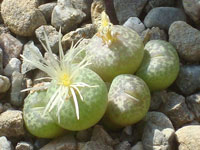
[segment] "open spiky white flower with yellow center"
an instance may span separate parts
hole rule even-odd
[[[29,60],[25,56],[21,55],[24,61],[30,63],[31,65],[35,66],[36,68],[46,72],[49,77],[45,78],[40,78],[38,80],[42,79],[51,79],[53,82],[55,81],[56,84],[58,85],[57,90],[54,92],[54,94],[51,96],[48,104],[45,107],[44,114],[48,111],[50,112],[56,105],[58,106],[58,111],[57,111],[57,117],[58,121],[60,122],[60,110],[62,109],[62,106],[64,104],[64,101],[69,99],[69,97],[72,96],[73,101],[74,101],[74,106],[76,110],[76,116],[77,119],[79,120],[79,106],[78,106],[78,100],[77,100],[77,94],[80,97],[80,99],[83,101],[83,97],[81,95],[81,92],[79,91],[79,87],[96,87],[96,86],[91,86],[83,82],[72,82],[73,77],[79,73],[79,71],[88,66],[88,58],[85,57],[80,63],[78,64],[72,64],[73,59],[82,51],[80,50],[78,53],[74,53],[74,49],[77,47],[77,44],[80,42],[77,42],[73,46],[71,46],[69,52],[64,55],[63,48],[61,45],[61,30],[59,31],[59,58],[56,59],[48,42],[48,38],[46,33],[45,35],[45,40],[46,40],[46,46],[44,43],[41,44],[43,45],[45,51],[49,54],[50,60],[47,61],[43,56],[37,54],[34,52],[34,50],[30,51],[32,53],[32,60]],[[32,87],[32,88],[27,88],[23,91],[35,91],[35,90],[43,90],[47,89],[49,86],[51,86],[51,83],[49,84],[43,84],[42,86],[38,87]]]

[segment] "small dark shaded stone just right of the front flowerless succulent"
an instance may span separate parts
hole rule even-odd
[[[157,91],[152,93],[150,110],[158,110],[160,105],[166,101],[167,91]]]

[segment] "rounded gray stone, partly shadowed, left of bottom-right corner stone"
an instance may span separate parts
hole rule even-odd
[[[142,144],[144,149],[171,150],[173,148],[174,128],[169,118],[161,112],[148,112]]]

